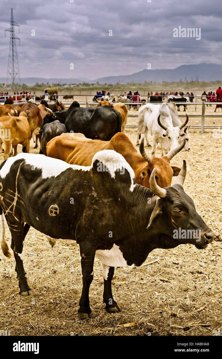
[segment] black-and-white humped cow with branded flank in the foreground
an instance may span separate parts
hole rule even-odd
[[[81,318],[92,316],[89,288],[95,256],[103,264],[105,308],[110,313],[120,311],[111,288],[115,266],[140,266],[155,248],[190,243],[202,249],[214,239],[214,233],[183,190],[185,174],[184,161],[176,183],[160,188],[153,169],[150,190],[135,183],[132,168],[113,150],[96,153],[89,167],[27,153],[7,159],[0,166],[1,247],[9,257],[4,213],[12,237],[20,294],[31,294],[22,250],[32,226],[52,244],[54,239],[74,239],[79,244]],[[191,234],[190,239],[175,239],[175,228],[190,232],[198,229],[199,238]]]

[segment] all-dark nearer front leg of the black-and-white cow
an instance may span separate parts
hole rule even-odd
[[[89,287],[93,280],[93,264],[96,248],[89,246],[89,243],[79,245],[82,268],[82,294],[79,301],[79,317],[87,319],[92,317],[92,311],[89,305]]]

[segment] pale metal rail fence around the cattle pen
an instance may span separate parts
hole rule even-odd
[[[16,100],[17,100],[17,96],[19,96],[19,95],[4,95],[5,97],[10,97],[10,96],[15,96],[15,102],[14,103],[17,103],[17,104],[21,104],[22,102],[16,102]],[[40,95],[39,95],[40,96]],[[86,99],[86,101],[79,101],[79,104],[80,105],[85,105],[86,107],[91,107],[91,106],[93,106],[93,105],[95,105],[96,103],[95,102],[92,102],[92,101],[88,101],[88,97],[93,97],[93,95],[73,95],[73,98],[74,98],[74,96],[75,97],[80,97],[80,96],[84,96],[85,97],[85,99]],[[118,96],[118,95],[115,95],[115,96]],[[162,95],[160,95],[160,96],[162,96]],[[173,95],[172,95],[173,96]],[[34,101],[35,101],[35,99],[36,99],[36,97],[38,97],[38,95],[33,95],[32,96],[33,98],[34,98]],[[143,95],[143,96],[141,96],[141,97],[149,97],[149,96],[147,96],[147,95]],[[162,96],[163,97],[163,96]],[[171,97],[171,95],[169,95],[169,96],[166,96],[165,95],[165,98],[167,98],[168,99],[168,97]],[[188,97],[188,95],[186,95],[185,97]],[[205,109],[206,109],[206,105],[210,105],[210,104],[215,104],[215,105],[217,105],[217,104],[219,104],[219,105],[222,105],[222,102],[205,102],[205,101],[200,101],[200,102],[197,102],[197,98],[198,97],[202,97],[201,95],[195,95],[194,96],[195,97],[195,102],[176,102],[176,104],[177,105],[189,105],[189,106],[192,106],[192,105],[195,105],[195,112],[196,112],[196,110],[197,110],[197,105],[202,105],[202,114],[201,115],[189,115],[189,117],[201,117],[201,126],[200,125],[190,125],[190,128],[191,129],[201,129],[201,134],[203,134],[204,133],[204,129],[216,129],[216,128],[218,128],[218,125],[217,126],[213,126],[213,125],[207,125],[207,126],[205,126],[205,118],[206,117],[222,117],[222,115],[208,115],[208,114],[206,114],[205,113]],[[66,102],[66,101],[64,101],[63,100],[63,94],[59,94],[58,95],[58,100],[59,101],[63,101],[63,104],[66,106],[66,105],[68,105],[68,106],[70,106],[71,104],[72,104],[72,102],[73,102],[73,100],[72,101],[68,101],[68,102]],[[122,101],[121,101],[122,102]],[[26,102],[24,102],[24,103],[26,103]],[[38,104],[38,103],[40,103],[40,101],[36,101],[36,103]],[[49,102],[50,103],[50,102]],[[115,103],[115,102],[114,102]],[[113,103],[113,104],[114,104]],[[135,106],[141,106],[143,103],[141,103],[141,102],[122,102],[122,103],[124,103],[124,104],[126,104],[126,105],[130,105],[131,107],[132,107],[132,105],[135,105]],[[167,102],[146,102],[146,103],[153,103],[153,104],[162,104],[162,103],[167,103]],[[133,107],[133,108],[135,108],[135,107]],[[178,114],[179,115],[179,117],[186,117],[186,115],[182,115],[182,114]],[[127,117],[138,117],[138,113],[137,114],[128,114],[128,116]],[[222,126],[222,125],[221,125]],[[126,128],[136,128],[137,127],[137,125],[126,125]],[[220,127],[220,125],[219,125],[219,127]]]

